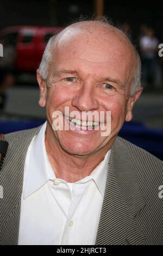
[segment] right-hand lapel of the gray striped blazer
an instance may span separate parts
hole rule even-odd
[[[96,245],[145,245],[146,237],[134,220],[143,207],[129,153],[117,138],[111,148]]]

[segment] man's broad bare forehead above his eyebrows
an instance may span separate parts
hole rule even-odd
[[[53,65],[58,66],[66,63],[73,65],[74,59],[78,66],[86,61],[92,67],[105,66],[128,76],[134,58],[129,40],[114,28],[70,27],[58,36],[53,46]]]

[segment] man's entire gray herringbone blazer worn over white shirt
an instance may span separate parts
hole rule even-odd
[[[0,244],[17,245],[24,162],[35,129],[5,136],[9,150],[0,173]],[[163,245],[163,162],[117,137],[111,148],[96,245]],[[89,210],[89,209],[88,209]],[[25,232],[26,230],[24,230]]]

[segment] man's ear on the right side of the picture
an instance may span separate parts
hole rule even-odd
[[[139,90],[137,90],[137,92],[133,95],[130,96],[127,102],[127,108],[126,108],[126,118],[125,120],[128,122],[131,119],[133,119],[133,107],[134,107],[134,103],[136,102],[137,99],[139,99],[139,96],[142,93],[143,88],[139,88]]]

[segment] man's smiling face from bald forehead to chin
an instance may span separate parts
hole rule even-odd
[[[124,120],[131,119],[133,101],[129,97],[129,86],[134,54],[124,45],[123,38],[117,39],[117,35],[101,33],[100,30],[90,35],[80,29],[61,35],[53,54],[47,80],[49,88],[46,89],[42,81],[44,89],[40,94],[40,106],[46,105],[47,109],[49,133],[55,143],[69,154],[83,156],[109,149]],[[106,112],[110,111],[110,135],[101,136],[101,129],[72,130],[65,116],[65,107],[70,113],[77,111],[81,121],[86,121],[82,120],[83,111],[96,111],[99,116],[103,112],[101,121],[105,125]],[[64,126],[67,122],[70,129],[52,129],[55,111],[62,112]]]

